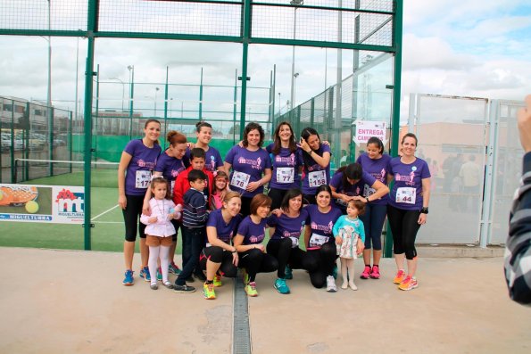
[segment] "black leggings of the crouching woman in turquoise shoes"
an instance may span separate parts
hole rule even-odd
[[[270,240],[267,246],[268,254],[278,260],[277,276],[284,279],[286,276],[286,265],[292,269],[304,269],[314,271],[317,269],[315,259],[308,257],[306,251],[299,247],[292,248],[289,237],[282,240]]]

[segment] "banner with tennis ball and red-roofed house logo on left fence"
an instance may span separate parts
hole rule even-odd
[[[0,221],[82,224],[85,188],[0,184]]]

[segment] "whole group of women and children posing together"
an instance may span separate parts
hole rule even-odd
[[[275,271],[275,289],[289,293],[286,280],[293,278],[293,269],[306,270],[314,287],[336,292],[338,257],[341,287],[356,290],[353,259],[358,255],[365,265],[361,278],[380,277],[387,217],[397,266],[394,283],[402,290],[418,286],[415,238],[427,220],[430,173],[427,162],[415,157],[418,142],[413,134],[402,137],[402,156],[396,158],[371,137],[367,152],[333,176],[330,147],[313,128],[304,128],[297,139],[291,125],[281,122],[273,143],[263,148],[263,128],[249,123],[243,141],[224,160],[210,146],[212,126],[206,122],[196,125],[195,144],[170,131],[169,147],[162,152],[160,134],[161,124],[148,119],[145,136],[129,142],[120,159],[119,204],[126,226],[123,284],[134,282],[139,235],[140,276],[153,290],[162,281],[175,292],[195,292],[189,283],[196,278],[203,281],[204,297],[215,299],[214,288],[222,278],[235,277],[240,268],[248,296],[258,295],[258,273]],[[173,260],[178,228],[182,269]],[[169,273],[177,275],[174,284]]]

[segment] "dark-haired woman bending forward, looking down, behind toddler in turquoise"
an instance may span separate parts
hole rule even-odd
[[[369,196],[363,195],[364,185],[369,185],[374,192],[368,193]],[[332,197],[335,198],[336,205],[343,214],[346,214],[346,205],[350,201],[358,200],[369,203],[378,201],[389,193],[386,185],[361,169],[361,165],[356,162],[338,169],[330,181],[330,188]]]

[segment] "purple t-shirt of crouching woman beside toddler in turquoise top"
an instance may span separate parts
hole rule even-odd
[[[332,229],[336,220],[342,215],[341,210],[332,207],[328,213],[319,211],[319,207],[314,204],[306,206],[304,209],[308,211],[308,218],[306,225],[311,227],[310,242],[307,250],[319,249],[324,243],[335,243]]]

